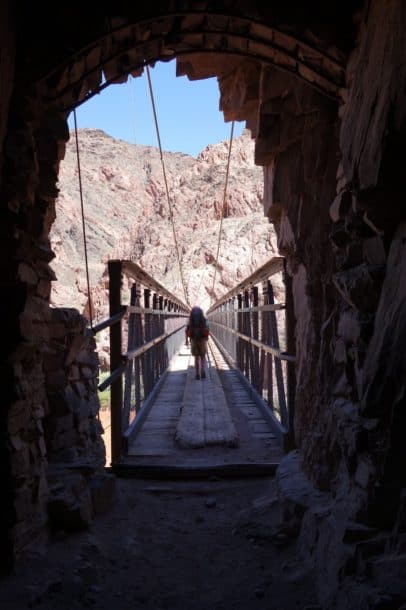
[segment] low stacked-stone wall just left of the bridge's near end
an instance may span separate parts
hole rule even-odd
[[[104,473],[96,342],[77,310],[51,309],[44,370],[48,521],[53,530],[74,531],[105,510],[114,491]]]

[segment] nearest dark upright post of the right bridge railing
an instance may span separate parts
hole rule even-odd
[[[285,324],[286,324],[286,351],[288,354],[296,353],[295,342],[295,311],[293,305],[292,278],[286,270],[286,260],[284,261],[284,280],[285,280]],[[289,449],[295,447],[295,394],[296,394],[296,369],[294,362],[287,362],[287,403],[289,418],[288,443]]]

